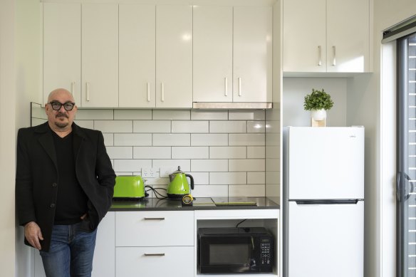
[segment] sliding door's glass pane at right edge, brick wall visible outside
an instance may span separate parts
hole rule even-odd
[[[397,39],[397,276],[416,277],[416,33]]]

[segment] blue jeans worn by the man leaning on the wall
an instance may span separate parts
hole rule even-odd
[[[47,277],[90,277],[97,229],[88,233],[80,223],[54,225],[51,249],[39,251]]]

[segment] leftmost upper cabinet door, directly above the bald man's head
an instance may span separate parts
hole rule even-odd
[[[43,3],[43,103],[56,88],[66,88],[80,105],[81,6]]]

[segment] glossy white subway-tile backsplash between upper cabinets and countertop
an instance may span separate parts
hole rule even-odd
[[[103,132],[116,174],[152,167],[157,177],[146,184],[165,188],[180,166],[194,177],[194,197],[264,197],[265,117],[264,110],[80,109],[76,124]]]

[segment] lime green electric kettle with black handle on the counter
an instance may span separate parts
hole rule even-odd
[[[184,194],[189,194],[189,184],[187,177],[191,180],[191,189],[194,189],[194,177],[190,174],[185,174],[177,167],[177,171],[169,174],[170,183],[167,185],[167,197],[171,199],[182,199]]]

